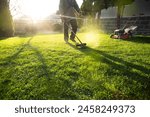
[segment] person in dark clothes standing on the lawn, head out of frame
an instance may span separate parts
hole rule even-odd
[[[77,32],[77,20],[76,20],[76,12],[80,14],[80,8],[76,2],[76,0],[60,0],[59,3],[59,12],[64,23],[64,40],[68,43],[68,39],[75,42],[75,34]],[[69,28],[71,25],[72,31],[69,37]]]

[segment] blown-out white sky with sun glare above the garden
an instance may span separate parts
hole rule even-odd
[[[11,0],[12,4],[13,1]],[[78,5],[82,4],[83,0],[76,0]],[[44,18],[50,14],[56,13],[59,6],[59,0],[19,0],[21,13],[30,16],[34,20]]]

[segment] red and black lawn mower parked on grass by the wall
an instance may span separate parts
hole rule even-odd
[[[129,38],[131,38],[133,36],[133,33],[136,31],[136,29],[138,27],[135,25],[137,20],[135,20],[131,26],[127,26],[127,24],[128,24],[128,22],[127,22],[122,29],[116,29],[114,31],[114,33],[111,34],[110,38],[113,38],[113,39],[129,39]]]

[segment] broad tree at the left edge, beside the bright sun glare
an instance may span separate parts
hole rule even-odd
[[[13,20],[9,10],[10,0],[0,0],[0,36],[10,37],[14,34]]]

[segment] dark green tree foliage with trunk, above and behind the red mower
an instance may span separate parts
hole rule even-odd
[[[124,12],[125,5],[131,4],[134,0],[83,0],[81,9],[85,14],[98,14],[98,20],[102,9],[107,9],[110,6],[117,7],[117,28],[120,28],[120,20]]]

